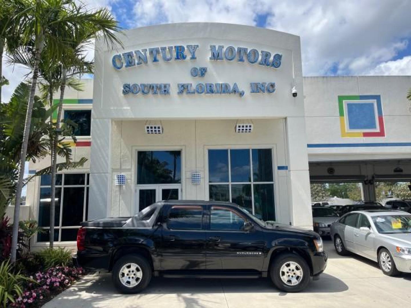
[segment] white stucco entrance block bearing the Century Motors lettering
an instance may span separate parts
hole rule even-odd
[[[288,167],[277,175],[277,214],[281,212],[279,207],[287,209],[287,213],[279,214],[277,219],[311,228],[299,37],[219,23],[157,25],[128,30],[124,34],[120,35],[124,50],[107,50],[101,40],[96,42],[89,217],[123,215],[132,211],[135,185],[133,147],[184,146],[187,156],[183,168],[187,178],[194,167],[206,169],[202,153],[207,145],[270,144],[281,149],[281,165]],[[118,70],[112,65],[112,57],[116,54],[187,44],[199,45],[196,60],[189,60],[187,56],[184,61],[164,62],[160,55],[157,63],[152,63],[148,57],[148,64],[140,66]],[[269,51],[272,55],[281,53],[282,64],[274,69],[258,62],[250,64],[247,60],[210,60],[210,45],[255,48]],[[204,77],[192,77],[192,67],[207,67],[208,71]],[[224,82],[237,83],[240,90],[245,91],[244,96],[177,94],[178,83]],[[276,90],[272,94],[252,94],[252,82],[275,82]],[[171,93],[123,95],[124,83],[170,83]],[[299,92],[297,97],[291,95],[293,86]],[[224,122],[208,122],[223,119]],[[233,132],[236,120],[241,119],[253,121],[253,133]],[[260,122],[259,119],[267,120]],[[160,136],[145,134],[146,120],[162,121],[165,133]],[[128,175],[129,187],[113,185],[118,172]],[[183,183],[183,187],[185,199],[208,198],[205,184],[194,188]]]

